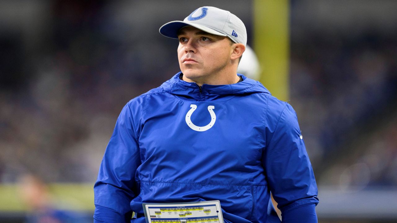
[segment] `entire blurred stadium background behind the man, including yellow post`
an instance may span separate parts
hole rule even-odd
[[[395,0],[0,1],[0,222],[92,222],[121,108],[179,71],[158,28],[204,5],[244,21],[295,108],[319,222],[397,222]]]

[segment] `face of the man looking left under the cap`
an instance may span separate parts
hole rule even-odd
[[[178,38],[179,67],[191,80],[206,82],[219,77],[231,63],[233,50],[227,37],[188,26],[179,31]]]

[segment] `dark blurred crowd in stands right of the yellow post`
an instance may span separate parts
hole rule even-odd
[[[306,133],[319,183],[397,186],[397,35],[306,33],[304,42],[293,40],[291,54],[290,103]],[[377,143],[360,143],[367,137]],[[362,162],[369,155],[375,159]],[[349,179],[346,185],[345,168],[357,162],[362,164],[357,171],[368,180]],[[335,164],[341,172],[321,175]],[[358,177],[357,171],[349,177]]]

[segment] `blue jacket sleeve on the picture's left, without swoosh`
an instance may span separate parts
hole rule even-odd
[[[141,164],[134,118],[127,104],[106,147],[94,185],[94,222],[129,222],[137,195],[135,172]]]

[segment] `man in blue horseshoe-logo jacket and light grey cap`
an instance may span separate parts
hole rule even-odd
[[[283,222],[317,222],[295,111],[236,72],[243,22],[206,6],[160,33],[179,39],[181,72],[121,111],[94,186],[95,222],[143,223],[142,203],[210,200],[226,223],[276,222],[270,191]]]

